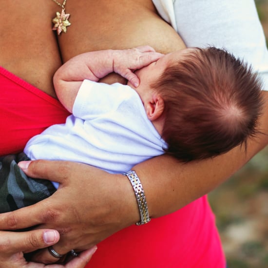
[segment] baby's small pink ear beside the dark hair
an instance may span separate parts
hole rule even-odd
[[[164,100],[159,94],[155,93],[152,95],[151,100],[144,105],[144,108],[148,119],[154,121],[164,112]]]

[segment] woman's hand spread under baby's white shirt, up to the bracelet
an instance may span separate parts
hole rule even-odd
[[[116,231],[139,221],[132,186],[123,175],[67,161],[37,160],[19,165],[31,177],[48,178],[60,185],[52,196],[33,206],[0,214],[0,230],[32,226],[56,229],[60,241],[53,248],[57,253],[65,254],[71,249],[90,249]],[[32,260],[57,261],[47,249],[41,250]]]

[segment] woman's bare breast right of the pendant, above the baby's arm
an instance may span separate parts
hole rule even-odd
[[[78,19],[81,16],[83,20]],[[93,50],[150,45],[169,53],[185,47],[174,29],[157,15],[151,0],[83,1],[73,9],[71,18],[68,34],[59,39],[64,61]]]

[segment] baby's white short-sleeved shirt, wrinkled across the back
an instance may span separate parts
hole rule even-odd
[[[31,138],[24,153],[32,160],[69,160],[123,173],[163,154],[164,146],[134,89],[85,80],[73,115]]]

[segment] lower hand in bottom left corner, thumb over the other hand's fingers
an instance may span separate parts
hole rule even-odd
[[[32,230],[28,232],[0,231],[0,267],[41,268],[44,264],[27,262],[23,253],[47,248],[56,244],[59,233],[56,230]],[[51,268],[83,268],[90,260],[94,250],[87,250],[73,258],[65,266],[48,265]]]

